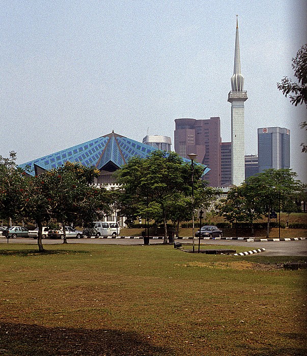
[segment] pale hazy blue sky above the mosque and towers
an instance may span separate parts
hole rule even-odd
[[[179,117],[219,116],[230,141],[238,15],[245,154],[257,154],[257,128],[286,127],[306,183],[306,107],[276,87],[295,79],[306,10],[304,0],[2,0],[0,155],[21,164],[112,130],[174,142]]]

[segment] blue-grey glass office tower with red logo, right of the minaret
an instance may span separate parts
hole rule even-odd
[[[259,172],[290,168],[290,130],[281,127],[258,129]]]

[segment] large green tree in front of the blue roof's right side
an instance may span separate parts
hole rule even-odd
[[[194,165],[195,191],[202,185],[203,172],[204,166]],[[122,185],[122,214],[130,222],[139,217],[162,222],[164,243],[167,243],[166,223],[178,219],[176,204],[191,196],[190,164],[174,152],[154,151],[147,158],[133,157],[116,176]],[[186,208],[187,204],[185,201]]]

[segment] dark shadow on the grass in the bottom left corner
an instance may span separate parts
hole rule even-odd
[[[171,355],[132,332],[0,323],[0,353],[11,356]]]

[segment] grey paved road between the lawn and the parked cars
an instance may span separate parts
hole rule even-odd
[[[177,240],[176,240],[177,241]],[[191,240],[178,240],[181,244],[191,244]],[[6,244],[7,239],[0,236],[0,243]],[[34,244],[37,241],[34,239],[19,238],[16,240],[9,240],[9,244]],[[44,245],[62,244],[62,240],[44,239]],[[98,244],[98,245],[143,245],[143,239],[69,239],[69,244]],[[161,244],[162,240],[151,239],[150,244]],[[195,242],[198,246],[198,241]],[[266,256],[307,256],[307,240],[301,241],[274,241],[274,242],[247,242],[237,240],[206,240],[201,241],[201,248],[205,249],[206,245],[222,245],[222,246],[243,246],[244,251],[265,248],[262,252]]]

